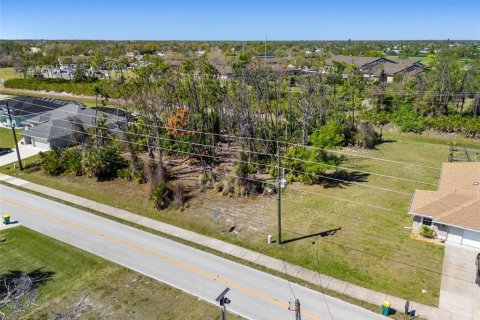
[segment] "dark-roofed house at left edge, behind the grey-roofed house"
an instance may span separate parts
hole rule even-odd
[[[23,127],[23,122],[58,108],[69,103],[75,103],[67,100],[49,99],[49,98],[32,98],[32,97],[15,97],[12,99],[0,100],[0,123],[4,126],[10,126],[7,105],[10,108],[13,125],[16,128]]]

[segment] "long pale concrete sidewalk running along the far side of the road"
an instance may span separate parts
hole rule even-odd
[[[57,198],[63,201],[67,201],[91,210],[102,212],[104,214],[136,223],[138,225],[147,227],[149,229],[157,230],[162,233],[190,241],[204,247],[216,250],[218,252],[226,253],[231,256],[253,262],[257,265],[266,267],[268,269],[284,273],[299,278],[303,281],[311,283],[313,285],[321,285],[324,288],[342,293],[352,298],[371,303],[379,306],[383,300],[388,300],[392,304],[392,308],[398,312],[403,312],[406,301],[404,299],[387,295],[385,293],[366,289],[342,280],[338,280],[315,271],[283,262],[281,260],[263,255],[261,253],[244,249],[242,247],[230,244],[225,241],[217,240],[211,237],[207,237],[189,230],[181,229],[154,219],[140,216],[122,209],[117,209],[105,204],[101,204],[92,200],[81,198],[66,192],[55,190],[52,188],[44,187],[38,184],[34,184],[25,180],[21,180],[8,175],[0,174],[0,181],[22,187],[27,190],[35,191],[44,195],[48,195],[53,198]],[[419,315],[422,318],[428,320],[456,320],[462,319],[459,315],[452,314],[449,311],[441,310],[435,307],[423,305],[420,303],[410,301],[410,309],[415,310],[415,315]]]

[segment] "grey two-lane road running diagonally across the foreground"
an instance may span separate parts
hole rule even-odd
[[[0,185],[0,213],[12,221],[136,270],[210,303],[226,287],[228,309],[248,319],[375,320],[385,317],[174,241]],[[295,296],[294,296],[295,295]]]

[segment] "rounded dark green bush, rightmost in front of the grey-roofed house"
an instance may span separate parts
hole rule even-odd
[[[96,180],[115,178],[118,169],[125,165],[125,160],[115,147],[89,148],[82,159],[83,171]]]

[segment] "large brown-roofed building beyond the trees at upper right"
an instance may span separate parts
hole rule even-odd
[[[329,66],[332,66],[334,62],[355,65],[366,78],[386,82],[392,82],[396,75],[411,72],[423,72],[426,69],[425,65],[420,61],[412,59],[386,59],[378,57],[334,55],[327,59],[327,68],[324,72],[330,72]],[[381,79],[382,77],[384,77],[384,79]]]

